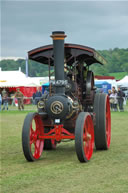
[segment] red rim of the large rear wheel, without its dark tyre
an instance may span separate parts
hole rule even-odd
[[[111,143],[111,114],[110,114],[110,103],[109,98],[107,97],[106,101],[106,140],[107,140],[107,147],[110,147]]]

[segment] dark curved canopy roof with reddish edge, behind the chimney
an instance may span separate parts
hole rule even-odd
[[[105,59],[93,48],[77,44],[64,44],[65,58],[67,65],[75,61],[86,63],[88,66],[93,63],[105,64]],[[53,45],[47,45],[33,49],[28,52],[28,58],[42,64],[54,65]]]

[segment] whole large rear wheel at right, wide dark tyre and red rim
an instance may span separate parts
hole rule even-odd
[[[96,114],[96,125],[94,126],[96,149],[107,150],[111,143],[111,113],[107,94],[96,94],[94,112]]]

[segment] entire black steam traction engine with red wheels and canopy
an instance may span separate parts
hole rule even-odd
[[[62,31],[51,37],[53,45],[28,52],[29,59],[49,66],[50,86],[38,102],[38,112],[29,113],[24,120],[23,152],[28,161],[35,161],[44,149],[52,150],[61,141],[74,139],[79,161],[87,162],[94,142],[97,150],[110,147],[109,99],[106,94],[96,94],[89,70],[91,64],[104,64],[105,60],[92,48],[64,44]]]

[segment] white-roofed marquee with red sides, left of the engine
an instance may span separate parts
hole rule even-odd
[[[29,104],[38,86],[40,85],[36,84],[30,77],[26,77],[21,71],[0,71],[0,92],[5,88],[10,100],[11,95],[19,88],[24,95],[24,103]]]

